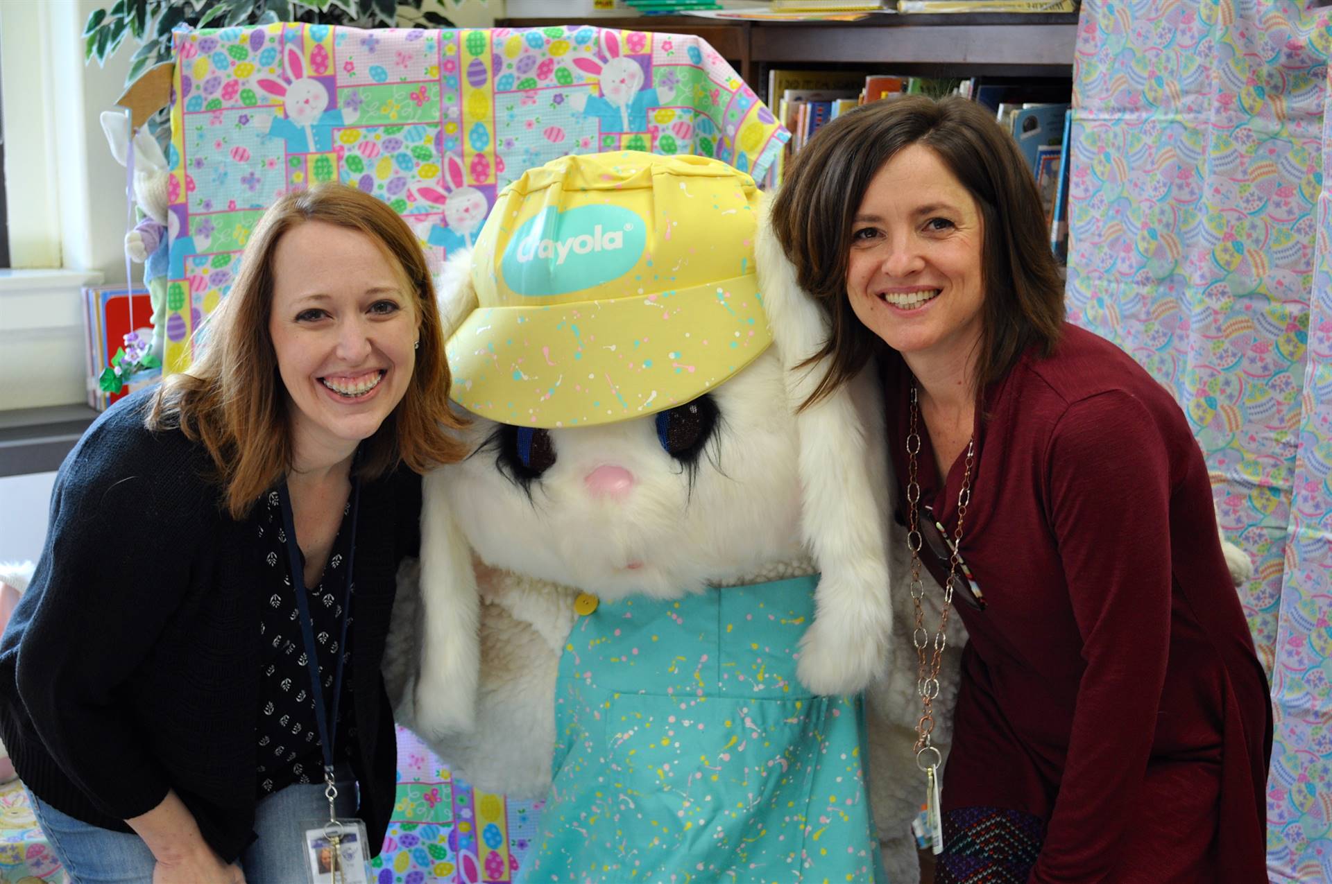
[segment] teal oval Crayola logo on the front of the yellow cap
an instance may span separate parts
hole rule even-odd
[[[500,269],[518,294],[565,294],[629,273],[646,244],[647,225],[637,212],[614,205],[549,208],[518,228]]]

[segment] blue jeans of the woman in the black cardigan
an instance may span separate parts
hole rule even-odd
[[[338,816],[356,813],[356,781],[338,767]],[[51,849],[64,865],[69,884],[152,884],[157,864],[133,832],[112,832],[61,813],[32,792],[32,812]],[[246,884],[305,884],[304,823],[329,813],[324,784],[288,785],[254,808],[258,839],[241,853]]]

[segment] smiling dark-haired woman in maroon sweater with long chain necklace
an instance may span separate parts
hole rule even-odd
[[[814,398],[879,359],[910,591],[923,564],[970,634],[936,880],[1265,880],[1271,704],[1203,454],[1064,321],[1012,138],[962,99],[858,108],[797,154],[773,221],[832,329]],[[928,771],[942,632],[915,638]]]

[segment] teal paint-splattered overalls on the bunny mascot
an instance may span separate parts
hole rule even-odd
[[[526,881],[886,881],[862,700],[795,678],[817,583],[602,602],[575,620]]]

